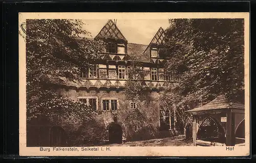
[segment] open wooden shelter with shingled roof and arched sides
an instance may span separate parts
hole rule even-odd
[[[234,146],[244,143],[244,104],[231,103],[222,95],[186,112],[193,116],[194,146]]]

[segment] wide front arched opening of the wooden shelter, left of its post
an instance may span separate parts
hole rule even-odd
[[[200,125],[197,139],[208,142],[225,143],[225,131],[223,127],[212,117],[206,118]]]

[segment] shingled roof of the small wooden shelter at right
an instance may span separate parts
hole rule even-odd
[[[214,110],[214,109],[241,109],[244,110],[244,104],[241,103],[231,103],[228,102],[227,98],[224,95],[218,96],[216,99],[212,100],[208,104],[205,104],[199,108],[187,110],[186,112],[196,112],[196,111],[205,111],[205,110]]]

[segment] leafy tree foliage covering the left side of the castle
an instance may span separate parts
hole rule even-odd
[[[83,22],[73,19],[27,19],[27,121],[46,117],[54,125],[79,125],[97,114],[84,103],[58,94],[52,80],[77,81],[81,71],[98,59],[104,43],[86,39]],[[52,78],[49,78],[49,75]],[[76,127],[75,127],[76,126]]]

